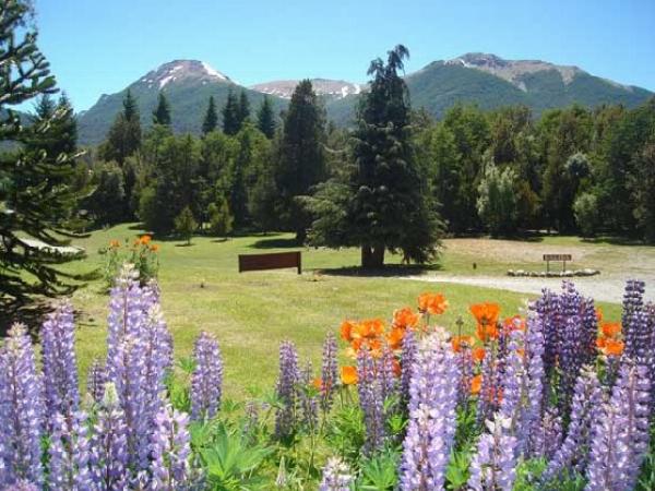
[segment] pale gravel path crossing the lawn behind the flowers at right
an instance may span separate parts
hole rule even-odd
[[[456,283],[479,287],[497,288],[501,290],[517,291],[521,294],[540,294],[543,288],[559,290],[562,280],[559,278],[516,278],[511,276],[456,276],[456,275],[422,275],[406,276],[404,279],[414,279],[430,283]],[[577,290],[595,300],[620,303],[623,298],[623,288],[628,277],[592,276],[588,278],[569,278],[575,284]],[[655,276],[640,277],[646,282],[646,299],[655,301]]]

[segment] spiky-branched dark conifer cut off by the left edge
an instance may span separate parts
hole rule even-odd
[[[21,124],[12,107],[57,88],[36,44],[31,2],[3,1],[1,10],[0,143],[20,144],[0,154],[0,312],[10,318],[38,296],[71,294],[83,277],[58,267],[80,255],[48,251],[70,243],[63,225],[79,199],[69,184],[75,171],[74,156],[67,148],[71,140],[55,141],[70,115],[41,99],[37,122]]]

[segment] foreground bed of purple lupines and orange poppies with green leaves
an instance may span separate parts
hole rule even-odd
[[[654,489],[655,307],[629,282],[620,323],[564,283],[525,316],[493,303],[438,326],[448,301],[345,321],[353,363],[293,343],[270,393],[223,397],[217,339],[174,361],[158,290],[124,266],[107,358],[79,390],[72,307],[0,348],[0,489]],[[39,359],[40,358],[40,359]]]

